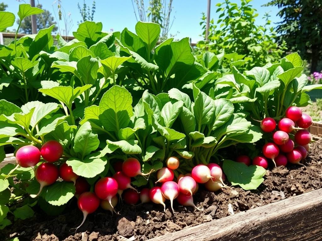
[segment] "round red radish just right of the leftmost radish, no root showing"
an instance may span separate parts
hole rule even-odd
[[[50,140],[43,144],[40,153],[47,162],[55,162],[62,157],[64,149],[62,148],[62,144],[58,141]]]

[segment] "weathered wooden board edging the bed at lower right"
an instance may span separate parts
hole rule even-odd
[[[322,189],[150,241],[321,241]]]

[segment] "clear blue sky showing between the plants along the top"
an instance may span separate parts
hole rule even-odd
[[[263,7],[262,4],[267,3],[269,0],[253,0],[251,4],[255,7],[259,13],[256,19],[257,24],[264,24],[262,16],[266,12],[270,12],[272,22],[278,22],[280,19],[277,17],[277,7]],[[0,0],[8,4],[6,11],[17,14],[20,3],[29,3],[28,0]],[[82,4],[83,0],[62,0],[62,7],[66,13],[70,12],[73,19],[73,27],[69,35],[72,35],[72,31],[77,30],[77,21],[81,19],[81,15],[77,8],[77,3]],[[91,6],[92,0],[85,0],[87,4]],[[130,31],[135,31],[135,24],[137,22],[131,0],[96,0],[96,12],[94,15],[95,22],[103,23],[103,31],[122,31],[127,27]],[[168,1],[167,1],[168,2]],[[221,3],[223,0],[212,0],[211,3],[211,18],[216,19],[215,5]],[[231,0],[231,2],[239,3],[239,0]],[[54,0],[35,0],[35,4],[42,4],[43,8],[49,10],[51,13],[54,11],[57,14],[57,1]],[[148,0],[145,0],[145,5],[148,5]],[[184,37],[190,37],[192,42],[202,40],[199,36],[202,33],[199,25],[202,12],[207,11],[207,0],[173,0],[173,12],[175,20],[170,33],[176,34],[175,38],[181,39]],[[218,14],[217,14],[218,15]],[[17,16],[16,16],[17,18]],[[63,22],[60,21],[61,26]],[[275,26],[274,24],[272,24]],[[16,29],[17,24],[12,28]]]

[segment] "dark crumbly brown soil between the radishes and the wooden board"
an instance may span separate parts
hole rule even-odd
[[[200,189],[194,196],[198,211],[192,207],[174,204],[175,215],[166,212],[162,205],[144,204],[137,207],[122,204],[117,206],[120,215],[98,210],[88,216],[84,225],[74,229],[82,220],[82,213],[71,203],[68,212],[49,217],[39,212],[36,217],[19,220],[0,232],[0,239],[19,237],[19,240],[147,240],[175,232],[213,219],[220,219],[244,210],[253,209],[291,196],[322,188],[322,140],[311,145],[306,167],[289,165],[268,170],[265,181],[258,190],[244,191],[241,188],[226,188],[212,193]],[[5,237],[5,238],[3,238]]]

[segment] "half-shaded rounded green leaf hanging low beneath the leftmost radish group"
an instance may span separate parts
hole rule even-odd
[[[73,169],[74,170],[74,169]],[[72,182],[55,182],[46,189],[45,200],[54,206],[61,206],[74,197],[75,186]]]

